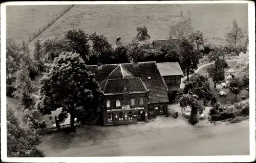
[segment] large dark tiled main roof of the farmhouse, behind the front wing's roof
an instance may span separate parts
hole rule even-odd
[[[120,66],[120,69],[117,68],[118,66]],[[107,87],[117,87],[115,83],[113,83],[113,86],[108,84],[108,82],[111,81],[108,76],[112,73],[112,71],[115,68],[117,68],[115,71],[122,70],[123,71],[122,74],[129,74],[124,78],[133,78],[130,76],[132,75],[137,78],[139,77],[144,82],[144,84],[142,83],[142,85],[144,85],[143,87],[146,87],[147,89],[150,90],[150,103],[161,103],[161,102],[169,101],[168,95],[167,95],[167,86],[157,68],[156,62],[139,62],[137,64],[133,64],[133,63],[112,64],[112,65],[102,65],[101,67],[98,67],[97,65],[93,65],[93,66],[87,66],[87,68],[88,68],[88,71],[95,73],[95,78],[99,83],[101,83],[100,87],[102,89],[103,88],[106,89]],[[117,74],[120,74],[120,73],[117,73]],[[148,79],[148,77],[151,77],[151,79]],[[138,79],[136,79],[136,83],[137,83],[137,80]],[[126,88],[128,90],[128,87]],[[123,88],[121,90],[123,90]]]

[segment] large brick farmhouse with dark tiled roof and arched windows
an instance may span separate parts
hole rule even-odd
[[[167,114],[168,87],[156,62],[92,65],[87,68],[95,73],[104,92],[103,125],[146,122],[157,115]],[[180,73],[175,72],[175,75]]]

